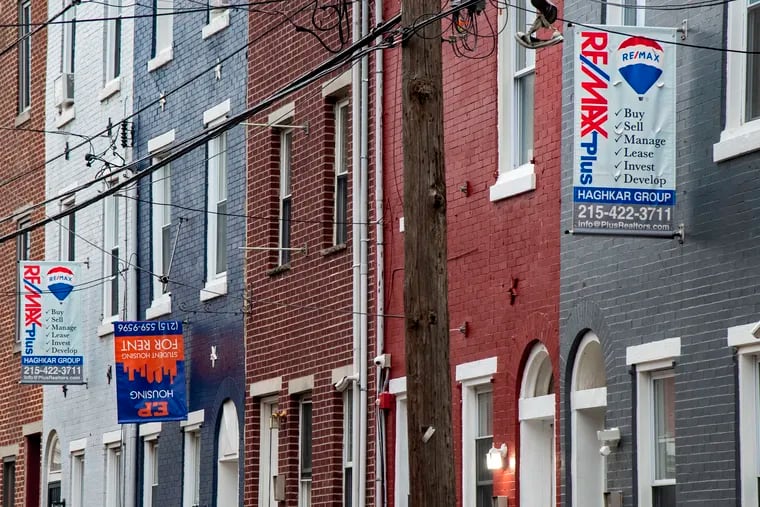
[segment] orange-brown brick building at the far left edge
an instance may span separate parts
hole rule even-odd
[[[44,217],[44,209],[23,211],[45,199],[45,66],[46,30],[35,23],[47,19],[47,2],[19,2],[6,6],[0,20],[4,72],[0,84],[7,93],[0,103],[0,226],[2,235]],[[31,37],[25,38],[31,33]],[[0,284],[6,304],[0,309],[0,495],[7,505],[38,506],[40,501],[42,388],[19,384],[21,347],[17,330],[18,260],[44,259],[44,230],[21,235],[0,244],[3,266]]]

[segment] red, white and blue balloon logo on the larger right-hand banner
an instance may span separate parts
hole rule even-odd
[[[639,100],[660,79],[664,56],[662,46],[646,37],[629,37],[620,44],[618,70]]]

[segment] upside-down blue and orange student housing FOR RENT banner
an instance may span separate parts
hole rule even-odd
[[[114,322],[118,422],[187,419],[182,322]]]

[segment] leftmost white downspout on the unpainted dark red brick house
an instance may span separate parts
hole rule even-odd
[[[361,18],[360,18],[360,0],[354,0],[351,7],[351,41],[355,44],[359,40],[359,34],[361,32]],[[360,144],[360,100],[361,93],[359,90],[359,81],[361,80],[361,69],[358,65],[352,64],[351,66],[351,253],[352,253],[352,308],[353,308],[353,372],[361,372],[362,369],[366,369],[364,362],[361,360],[361,321],[359,314],[361,313],[361,300],[360,293],[360,260],[361,260],[361,230],[359,228],[359,209],[361,208],[361,188],[359,186],[359,173],[361,171],[361,157],[359,150],[357,149]],[[351,435],[352,451],[351,462],[354,466],[359,465],[361,462],[360,455],[360,438],[357,429],[361,426],[361,400],[359,396],[360,384],[354,386],[351,390],[352,393],[352,406],[353,410],[353,428],[354,431]],[[359,468],[358,474],[352,474],[351,478],[351,497],[354,500],[354,504],[358,505],[358,499],[360,497],[359,477],[361,476],[361,468]]]

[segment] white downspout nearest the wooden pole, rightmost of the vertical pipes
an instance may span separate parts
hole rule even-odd
[[[383,0],[375,0],[375,26],[383,23]],[[385,248],[383,194],[383,52],[375,52],[375,356],[385,352]],[[380,383],[381,368],[375,368],[377,393],[383,390]],[[375,506],[386,505],[386,449],[385,421],[382,412],[375,416]]]

